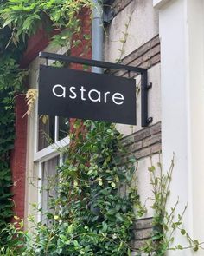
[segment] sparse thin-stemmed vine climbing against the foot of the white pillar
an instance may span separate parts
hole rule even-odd
[[[174,158],[171,161],[167,174],[163,174],[161,162],[158,162],[157,167],[159,170],[156,170],[156,167],[153,165],[149,168],[150,184],[154,195],[151,199],[153,200],[151,207],[154,209],[152,223],[153,233],[152,238],[141,248],[141,252],[148,253],[150,256],[163,256],[169,250],[179,251],[191,248],[196,252],[199,248],[204,249],[201,246],[202,243],[198,240],[193,240],[188,232],[183,228],[182,218],[187,206],[184,207],[182,213],[176,213],[179,200],[175,202],[175,206],[171,207],[170,210],[167,207],[167,201],[170,195],[169,186],[174,168]],[[189,246],[172,246],[175,242],[175,231],[179,231],[182,236],[187,238]]]

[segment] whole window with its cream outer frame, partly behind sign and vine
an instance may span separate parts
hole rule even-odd
[[[63,54],[63,51],[58,53]],[[35,89],[38,88],[39,64],[37,58],[30,65],[29,85]],[[57,196],[53,183],[59,182],[56,180],[56,167],[63,162],[63,156],[57,149],[69,144],[69,120],[58,116],[39,116],[35,104],[35,110],[29,116],[28,129],[27,214],[35,215],[32,203],[36,203],[42,212],[52,211],[48,200]],[[43,214],[37,213],[35,218],[48,225]]]

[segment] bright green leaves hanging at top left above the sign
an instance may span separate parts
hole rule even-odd
[[[71,46],[73,35],[80,33],[82,8],[92,6],[91,0],[8,0],[1,4],[0,18],[3,28],[9,28],[10,43],[19,46],[28,37],[43,28],[51,35],[53,30],[62,33],[54,36],[57,44]],[[61,41],[61,43],[59,42]]]

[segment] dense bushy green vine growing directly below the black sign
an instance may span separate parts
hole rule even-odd
[[[122,161],[125,152],[114,125],[78,120],[74,128],[83,132],[73,134],[59,167],[58,197],[42,213],[49,224],[30,219],[35,232],[32,244],[28,233],[23,237],[22,255],[131,255],[132,222],[143,213],[131,186],[135,159]],[[9,249],[4,246],[4,252]]]

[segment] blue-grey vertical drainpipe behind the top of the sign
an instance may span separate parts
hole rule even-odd
[[[92,60],[103,61],[103,1],[92,0]],[[92,72],[103,73],[103,69],[92,67]]]

